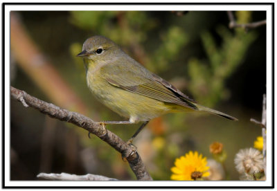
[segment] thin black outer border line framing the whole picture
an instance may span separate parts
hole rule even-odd
[[[5,6],[6,5],[271,5],[272,8],[272,185],[271,186],[6,186],[5,185]],[[275,3],[2,3],[2,186],[1,188],[275,188],[274,183],[274,6]]]

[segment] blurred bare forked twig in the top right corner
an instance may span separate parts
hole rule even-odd
[[[233,12],[227,11],[227,15],[229,17],[229,28],[244,28],[245,30],[249,30],[251,28],[257,28],[259,26],[263,26],[267,24],[267,20],[257,21],[249,24],[237,24],[235,21],[235,17],[233,17]]]

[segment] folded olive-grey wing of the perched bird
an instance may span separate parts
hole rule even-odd
[[[138,64],[134,64],[132,67],[108,64],[102,67],[101,75],[109,84],[120,89],[198,110],[193,104],[195,103],[194,100]]]

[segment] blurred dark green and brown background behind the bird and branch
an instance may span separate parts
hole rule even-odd
[[[199,113],[156,118],[134,140],[154,180],[169,180],[175,158],[197,151],[212,158],[209,145],[223,144],[227,180],[238,180],[233,159],[253,147],[261,129],[266,89],[266,28],[229,29],[225,11],[22,11],[11,12],[10,84],[46,102],[95,121],[122,120],[87,88],[82,43],[103,35],[150,71],[200,104],[238,122]],[[233,12],[238,23],[266,19],[266,12]],[[49,118],[11,100],[11,180],[37,180],[39,172],[136,177],[107,143],[87,131]],[[107,125],[128,140],[138,125]]]

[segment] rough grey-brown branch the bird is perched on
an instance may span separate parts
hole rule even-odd
[[[116,134],[107,130],[105,126],[100,125],[98,122],[95,122],[90,118],[81,115],[80,113],[61,109],[55,104],[39,100],[33,96],[28,95],[28,93],[24,91],[15,89],[14,87],[10,87],[10,93],[12,98],[15,98],[15,100],[20,102],[24,100],[24,102],[28,104],[29,107],[33,107],[52,118],[71,122],[78,127],[86,129],[91,134],[95,134],[106,143],[111,145],[111,147],[114,147],[114,149],[120,152],[123,158],[126,158],[126,160],[129,162],[129,166],[132,168],[134,174],[136,174],[136,178],[138,180],[152,180],[152,177],[146,171],[145,165],[143,164],[143,161],[141,161],[141,157],[139,156],[138,152],[134,152],[134,149],[130,145],[127,145],[127,143],[116,136]]]

